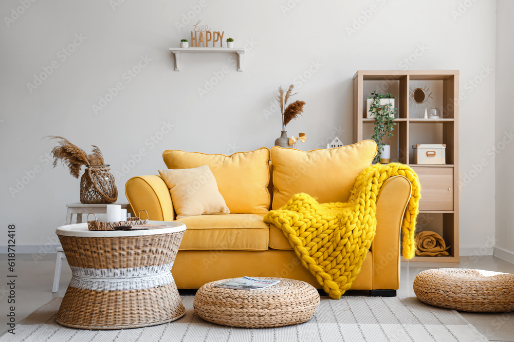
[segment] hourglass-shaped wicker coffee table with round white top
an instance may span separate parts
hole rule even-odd
[[[87,224],[57,229],[72,277],[56,322],[82,329],[158,325],[186,310],[170,272],[186,226],[89,231]]]

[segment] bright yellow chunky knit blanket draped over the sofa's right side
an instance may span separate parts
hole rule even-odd
[[[377,226],[376,200],[389,177],[406,176],[412,195],[401,226],[402,254],[414,256],[414,230],[420,185],[407,165],[376,164],[357,177],[348,202],[318,204],[299,193],[280,210],[272,210],[264,222],[281,228],[304,267],[316,276],[331,298],[339,299],[352,286],[370,249]]]

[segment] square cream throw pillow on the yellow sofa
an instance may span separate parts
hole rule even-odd
[[[170,189],[177,219],[194,215],[230,213],[209,166],[159,170],[159,174]]]

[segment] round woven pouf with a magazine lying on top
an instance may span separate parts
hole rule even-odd
[[[194,310],[212,323],[241,328],[271,328],[309,320],[320,304],[318,290],[300,280],[284,278],[259,290],[221,289],[217,280],[202,286],[194,297]]]

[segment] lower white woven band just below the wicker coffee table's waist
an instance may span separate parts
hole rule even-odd
[[[175,283],[170,271],[160,274],[134,278],[91,278],[74,275],[69,283],[70,287],[92,291],[128,291],[151,289]]]

